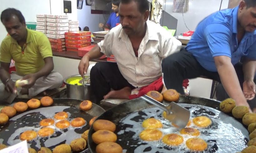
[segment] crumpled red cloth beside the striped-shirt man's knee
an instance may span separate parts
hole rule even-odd
[[[150,85],[148,86],[143,86],[140,88],[139,93],[136,95],[130,95],[129,99],[135,99],[138,98],[140,96],[146,95],[149,91],[160,91],[163,89],[163,81],[162,81],[162,77],[160,77],[159,79],[157,79],[156,81],[152,82]],[[184,80],[182,83],[182,86],[184,86],[187,89],[188,86],[188,79]]]

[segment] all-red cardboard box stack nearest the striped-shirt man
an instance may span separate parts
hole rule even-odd
[[[77,52],[78,48],[91,45],[90,31],[75,31],[65,33],[67,51]]]

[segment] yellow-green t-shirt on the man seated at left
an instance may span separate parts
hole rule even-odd
[[[10,63],[13,59],[19,75],[38,72],[44,67],[44,58],[53,56],[49,39],[42,32],[30,29],[27,31],[23,49],[11,36],[5,37],[0,47],[0,61]]]

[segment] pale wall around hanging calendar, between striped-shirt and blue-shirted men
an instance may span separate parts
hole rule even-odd
[[[228,1],[223,0],[221,9],[228,8]],[[221,0],[189,0],[188,11],[183,13],[187,27],[194,31],[202,19],[219,10],[220,4]],[[187,32],[188,29],[184,24],[182,13],[172,12],[172,5],[173,0],[166,0],[163,10],[178,20],[176,35],[180,35],[183,32]]]

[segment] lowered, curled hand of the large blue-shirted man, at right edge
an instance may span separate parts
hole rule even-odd
[[[255,83],[253,81],[243,82],[243,94],[246,100],[252,100],[255,97]]]

